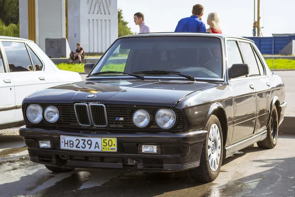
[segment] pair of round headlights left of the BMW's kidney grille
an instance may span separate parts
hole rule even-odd
[[[38,124],[43,119],[43,109],[38,104],[30,104],[27,108],[27,118],[29,122]],[[59,119],[59,110],[55,106],[48,106],[44,110],[44,118],[48,123],[55,123]]]

